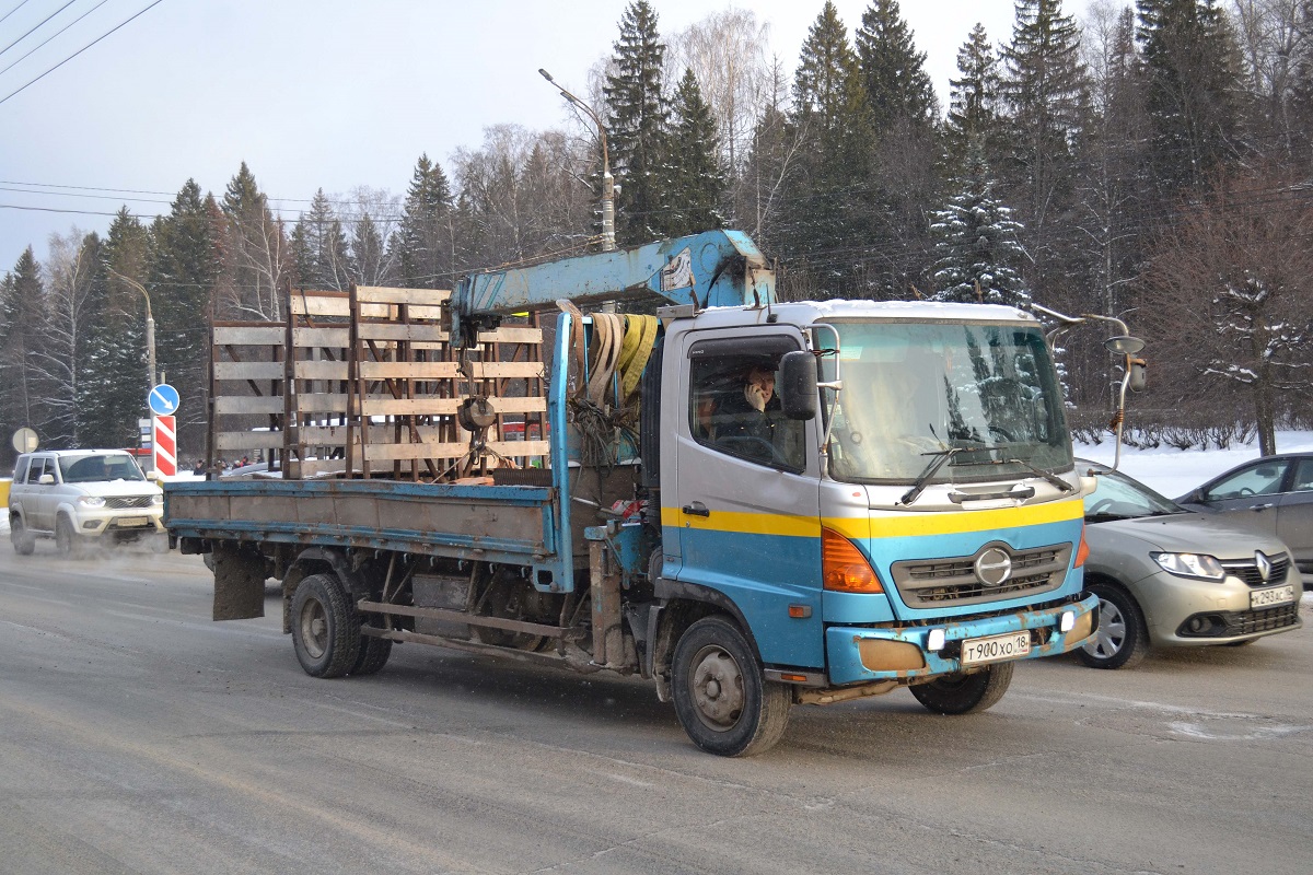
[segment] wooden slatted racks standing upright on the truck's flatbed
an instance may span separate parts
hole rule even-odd
[[[449,291],[295,290],[284,324],[215,325],[215,453],[268,451],[282,476],[453,480],[548,454],[542,332],[506,325],[457,349]],[[276,336],[281,335],[281,342]],[[462,401],[487,399],[471,433]],[[251,415],[267,416],[259,425]]]

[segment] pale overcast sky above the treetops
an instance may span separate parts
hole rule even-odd
[[[664,37],[718,9],[752,9],[771,25],[771,51],[790,77],[823,5],[651,1]],[[188,178],[219,195],[243,160],[274,209],[295,220],[319,188],[404,193],[421,152],[448,168],[449,155],[478,146],[488,125],[569,126],[563,101],[537,70],[548,68],[566,88],[586,94],[588,70],[611,55],[626,5],[161,0],[148,8],[151,3],[0,0],[0,16],[9,13],[0,21],[0,272],[29,244],[45,257],[51,232],[67,234],[72,226],[104,231],[109,216],[98,214],[123,203],[147,219],[167,213]],[[850,33],[868,5],[836,0]],[[928,55],[941,104],[956,75],[957,49],[977,21],[995,43],[1011,37],[1012,0],[901,5]],[[1066,3],[1077,14],[1086,5]]]

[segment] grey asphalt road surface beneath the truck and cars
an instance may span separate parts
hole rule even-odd
[[[1313,866],[1313,623],[1129,672],[1023,665],[966,718],[906,691],[800,707],[779,748],[722,760],[637,680],[418,644],[310,678],[268,596],[211,623],[194,556],[0,546],[0,871]]]

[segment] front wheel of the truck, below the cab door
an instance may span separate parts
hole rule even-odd
[[[750,757],[784,735],[792,690],[764,678],[733,622],[706,617],[689,626],[675,645],[672,674],[675,714],[702,750]]]

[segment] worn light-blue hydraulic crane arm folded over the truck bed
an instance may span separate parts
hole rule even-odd
[[[704,231],[633,249],[562,258],[532,268],[473,273],[452,298],[453,329],[469,335],[502,316],[576,304],[658,298],[704,307],[775,302],[775,273],[747,235]]]

